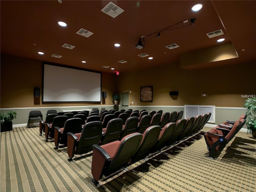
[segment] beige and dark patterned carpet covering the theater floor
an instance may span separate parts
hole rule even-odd
[[[207,131],[204,128],[203,131]],[[256,140],[239,132],[216,155],[208,154],[204,137],[197,134],[148,161],[140,161],[94,186],[92,153],[68,162],[66,148],[54,149],[39,128],[14,128],[0,133],[1,192],[255,192]]]

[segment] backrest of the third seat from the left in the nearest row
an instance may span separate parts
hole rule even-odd
[[[176,128],[176,123],[174,122],[170,122],[166,124],[159,134],[158,141],[150,151],[156,152],[158,150],[161,150],[174,134],[175,128]]]

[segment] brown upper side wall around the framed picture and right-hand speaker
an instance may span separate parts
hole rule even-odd
[[[154,62],[154,61],[153,61]],[[241,94],[256,94],[255,62],[201,70],[184,70],[179,63],[118,76],[119,92],[129,92],[132,105],[215,105],[243,107]],[[140,102],[140,86],[153,86],[153,102]],[[178,91],[177,100],[169,92]],[[206,97],[202,97],[206,93]]]

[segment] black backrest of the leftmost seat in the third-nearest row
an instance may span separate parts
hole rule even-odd
[[[74,134],[82,132],[82,120],[80,118],[70,118],[66,120],[62,135],[60,137],[60,144],[67,144],[68,132]]]

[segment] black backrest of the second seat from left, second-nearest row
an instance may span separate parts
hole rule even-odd
[[[101,141],[101,145],[110,143],[119,139],[123,128],[123,120],[119,118],[112,119],[108,122],[106,133]]]

